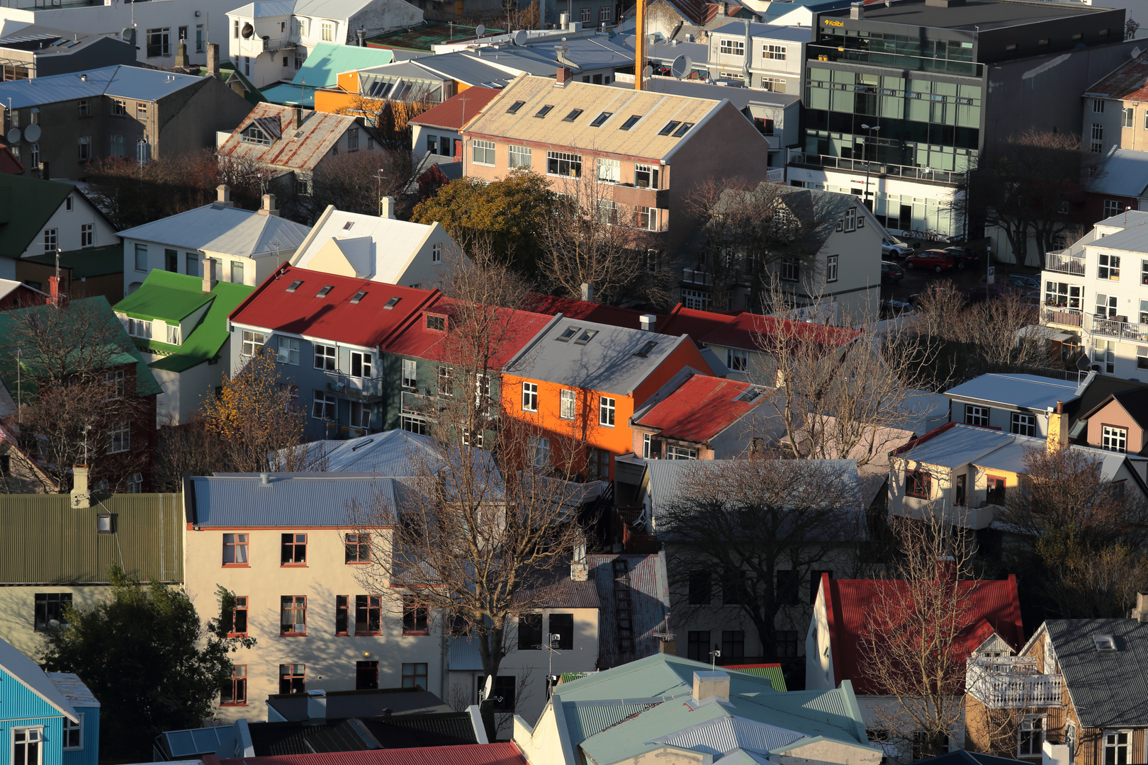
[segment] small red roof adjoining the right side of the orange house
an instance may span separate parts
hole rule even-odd
[[[635,424],[659,428],[667,438],[704,444],[761,403],[738,400],[750,383],[708,375],[692,375],[673,393],[635,420]]]

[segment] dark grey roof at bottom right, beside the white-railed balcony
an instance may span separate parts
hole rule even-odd
[[[1064,685],[1086,728],[1148,726],[1148,624],[1135,619],[1045,622]],[[1037,633],[1040,634],[1039,632]],[[1094,635],[1112,635],[1115,651],[1097,651]]]

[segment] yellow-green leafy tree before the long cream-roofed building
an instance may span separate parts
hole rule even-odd
[[[414,208],[412,220],[437,221],[466,252],[487,250],[523,275],[534,276],[538,234],[554,203],[550,182],[525,170],[486,182],[459,178]]]

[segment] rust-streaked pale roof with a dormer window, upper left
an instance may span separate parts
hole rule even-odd
[[[216,154],[220,157],[248,159],[277,167],[315,170],[348,128],[360,124],[357,117],[333,115],[326,111],[303,111],[303,122],[296,120],[292,107],[278,103],[256,104],[235,132],[224,141]],[[271,135],[271,146],[245,143],[242,133],[251,123]]]

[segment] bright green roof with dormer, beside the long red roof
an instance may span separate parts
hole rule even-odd
[[[180,345],[135,338],[135,343],[145,350],[161,354],[152,362],[153,369],[184,372],[219,354],[219,349],[230,336],[227,317],[254,291],[254,287],[246,284],[218,282],[210,292],[204,292],[203,280],[199,276],[154,270],[139,289],[116,304],[115,310],[137,319],[164,319],[166,313],[173,321],[179,321],[210,302],[203,318]],[[180,307],[168,307],[169,302],[171,306]],[[188,305],[193,307],[185,310]]]

